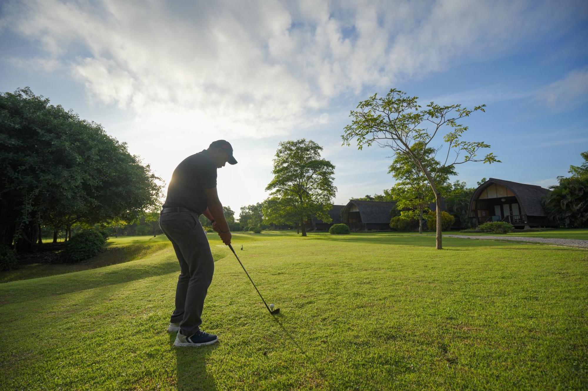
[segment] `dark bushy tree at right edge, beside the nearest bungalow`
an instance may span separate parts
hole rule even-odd
[[[588,227],[588,151],[581,155],[583,163],[570,166],[572,176],[557,177],[559,184],[543,200],[550,220],[563,227]]]

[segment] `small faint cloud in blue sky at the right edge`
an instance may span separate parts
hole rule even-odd
[[[588,100],[588,68],[576,69],[540,90],[536,100],[554,111],[575,109]]]

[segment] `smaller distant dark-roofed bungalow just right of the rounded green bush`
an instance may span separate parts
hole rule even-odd
[[[395,202],[350,200],[343,208],[343,223],[352,230],[389,230]]]

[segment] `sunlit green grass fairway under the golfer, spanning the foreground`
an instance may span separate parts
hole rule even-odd
[[[236,234],[243,264],[280,308],[272,317],[232,253],[209,238],[215,277],[202,327],[219,343],[172,346],[171,244],[141,253],[149,237],[111,240],[138,245],[129,251],[140,259],[0,284],[0,389],[588,387],[586,250]]]

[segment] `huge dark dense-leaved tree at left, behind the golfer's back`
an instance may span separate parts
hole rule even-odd
[[[102,126],[30,89],[0,94],[0,242],[31,250],[39,225],[131,219],[158,201],[159,178]]]

